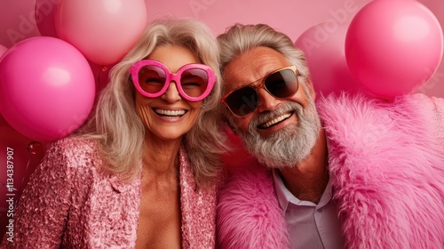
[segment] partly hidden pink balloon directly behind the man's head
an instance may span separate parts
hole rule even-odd
[[[295,44],[305,52],[316,93],[356,92],[360,84],[345,61],[347,26],[335,21],[323,22],[305,30]]]

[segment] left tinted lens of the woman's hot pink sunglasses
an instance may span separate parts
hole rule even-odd
[[[139,70],[139,85],[145,92],[161,92],[165,79],[165,71],[157,66],[148,65]]]

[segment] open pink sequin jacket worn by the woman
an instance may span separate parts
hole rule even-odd
[[[140,179],[122,181],[100,165],[97,142],[54,143],[33,173],[14,216],[13,243],[1,248],[134,248]],[[179,150],[182,247],[214,248],[216,187],[197,189]]]

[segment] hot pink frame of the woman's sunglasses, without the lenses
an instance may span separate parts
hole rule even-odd
[[[161,91],[155,92],[155,93],[145,92],[142,89],[142,87],[140,86],[139,71],[141,68],[143,68],[145,66],[155,66],[157,68],[163,69],[163,72],[165,73],[165,83],[163,84]],[[198,97],[192,97],[192,96],[187,95],[182,88],[182,84],[180,83],[180,77],[182,76],[182,73],[188,69],[191,69],[191,68],[202,69],[208,76],[207,88]],[[171,82],[174,81],[176,83],[176,87],[178,89],[178,93],[180,94],[180,96],[186,100],[194,101],[194,102],[203,100],[206,97],[208,97],[208,95],[210,95],[210,92],[213,89],[213,86],[217,80],[214,71],[207,65],[195,64],[195,63],[186,64],[186,65],[182,66],[181,68],[178,68],[178,71],[175,74],[173,74],[170,72],[170,70],[165,65],[163,65],[162,62],[160,62],[158,60],[139,60],[131,66],[130,74],[131,74],[132,84],[134,84],[134,87],[136,87],[136,89],[140,92],[140,94],[144,95],[145,97],[157,98],[157,97],[163,95],[163,93],[165,93],[167,91]]]

